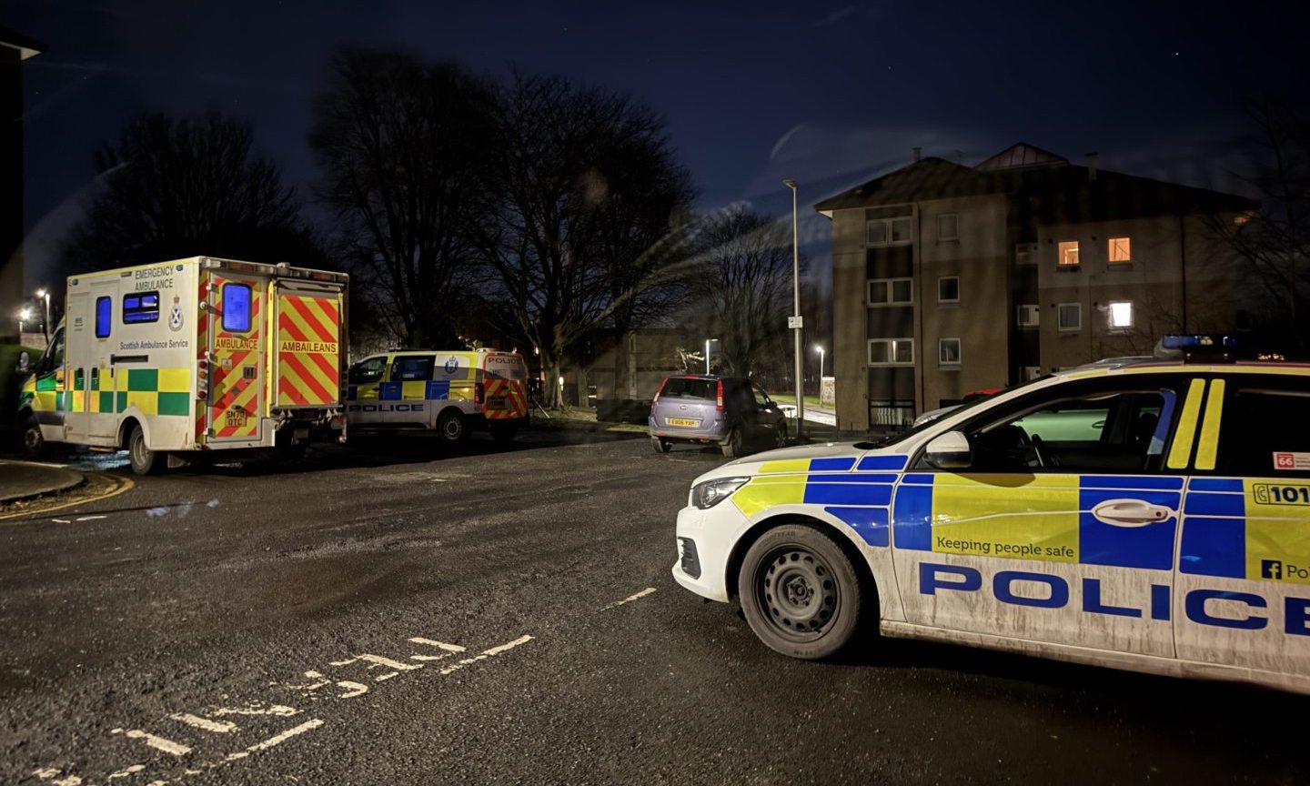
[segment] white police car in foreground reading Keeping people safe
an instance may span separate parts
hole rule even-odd
[[[1227,346],[1180,337],[1193,354]],[[696,479],[673,578],[795,658],[863,625],[1310,692],[1310,365],[1083,367]]]

